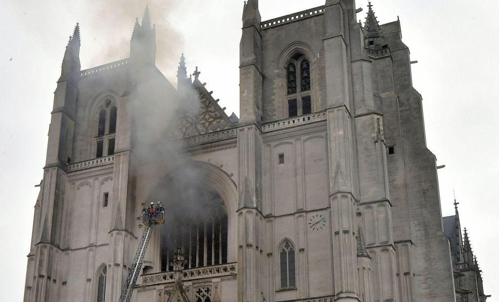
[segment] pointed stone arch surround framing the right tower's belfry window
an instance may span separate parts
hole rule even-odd
[[[314,111],[318,111],[317,109],[319,108],[317,103],[316,88],[314,84],[316,82],[317,71],[315,67],[316,65],[315,62],[317,57],[312,47],[310,47],[310,45],[304,42],[294,41],[283,48],[283,50],[281,51],[276,60],[275,68],[276,70],[278,70],[278,76],[277,76],[277,81],[275,82],[275,85],[277,86],[276,87],[277,97],[275,99],[276,102],[275,105],[276,105],[276,114],[278,120],[287,118],[286,66],[290,61],[291,57],[298,52],[302,53],[308,59],[308,62],[310,64],[310,96],[312,103],[312,113]]]

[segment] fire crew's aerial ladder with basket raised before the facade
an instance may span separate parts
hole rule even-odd
[[[151,205],[142,210],[142,224],[145,225],[144,233],[142,233],[142,238],[139,242],[139,247],[137,248],[137,253],[135,253],[135,258],[133,259],[132,266],[128,271],[128,276],[126,278],[125,284],[123,285],[123,290],[121,291],[119,302],[130,302],[132,298],[133,290],[135,284],[137,283],[137,278],[140,275],[140,270],[142,269],[142,264],[144,261],[144,256],[146,255],[147,246],[151,240],[151,234],[153,232],[153,227],[158,224],[165,223],[165,208],[158,202],[157,206],[151,202]]]

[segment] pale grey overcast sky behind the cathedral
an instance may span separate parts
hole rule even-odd
[[[325,0],[260,0],[262,19]],[[497,224],[499,37],[495,0],[373,0],[380,23],[400,16],[423,95],[428,147],[438,158],[444,215],[453,189],[469,229],[486,294],[499,297]],[[33,206],[45,161],[53,91],[64,47],[81,26],[82,69],[128,57],[135,16],[145,4],[157,24],[158,67],[174,80],[185,53],[227,113],[239,115],[239,40],[243,0],[0,0],[0,293],[22,301]],[[367,0],[357,1],[364,11]],[[19,206],[25,207],[22,211]]]

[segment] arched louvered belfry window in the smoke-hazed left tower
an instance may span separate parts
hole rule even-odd
[[[116,124],[118,109],[107,100],[98,111],[95,157],[113,155],[116,145]]]

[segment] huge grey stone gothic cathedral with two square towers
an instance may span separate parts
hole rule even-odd
[[[184,55],[176,88],[161,73],[148,8],[129,58],[87,70],[76,25],[24,302],[118,302],[158,201],[133,302],[485,302],[457,202],[442,217],[400,20],[361,11],[262,21],[245,2],[240,117]]]

